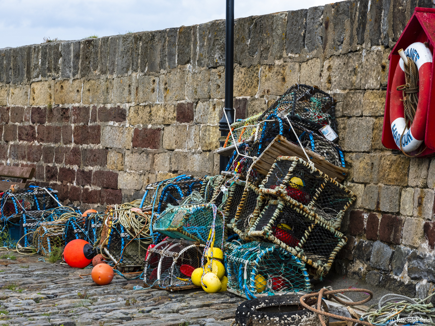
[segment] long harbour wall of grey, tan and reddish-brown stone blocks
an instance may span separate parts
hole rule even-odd
[[[425,296],[435,281],[435,161],[386,150],[388,54],[429,0],[360,0],[235,21],[236,118],[294,83],[337,100],[358,200],[335,268]],[[34,166],[65,204],[102,209],[180,173],[219,173],[224,20],[0,50],[0,163]],[[423,279],[423,281],[422,281]]]

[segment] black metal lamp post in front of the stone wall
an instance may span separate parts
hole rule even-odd
[[[234,122],[233,110],[233,85],[234,85],[234,0],[227,0],[225,18],[225,113],[227,113],[228,122]],[[228,128],[225,114],[219,121],[219,130],[221,137],[228,136],[230,129]],[[224,146],[224,142],[220,142],[220,146]],[[229,157],[220,156],[219,171],[225,170],[229,161]]]

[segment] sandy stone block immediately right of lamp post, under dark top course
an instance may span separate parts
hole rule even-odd
[[[258,92],[260,66],[234,67],[234,96],[254,96]],[[222,85],[225,87],[225,84]],[[224,90],[223,90],[224,91]]]

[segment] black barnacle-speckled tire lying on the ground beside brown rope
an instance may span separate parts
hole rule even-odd
[[[276,295],[246,300],[236,309],[236,323],[240,326],[320,326],[321,323],[316,313],[308,309],[298,310],[300,297],[298,295]],[[322,310],[328,312],[328,306],[323,300],[321,305]],[[325,317],[325,319],[328,326],[329,318]]]

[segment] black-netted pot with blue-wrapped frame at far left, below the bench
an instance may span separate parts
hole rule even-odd
[[[42,188],[29,186],[29,188],[19,189],[17,193],[7,193],[1,200],[0,206],[3,207],[1,211],[1,218],[6,218],[12,214],[19,214],[23,211],[29,210],[47,210],[50,208],[58,207],[59,204],[56,200],[57,190],[46,188],[45,191]],[[52,196],[50,196],[50,194]]]

